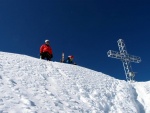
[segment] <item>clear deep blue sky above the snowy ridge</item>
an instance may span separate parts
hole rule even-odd
[[[137,81],[150,80],[150,1],[147,0],[0,0],[0,51],[39,58],[49,39],[53,61],[74,55],[83,67],[125,80],[122,62],[107,57],[125,41]]]

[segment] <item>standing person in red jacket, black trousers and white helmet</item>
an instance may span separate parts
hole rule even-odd
[[[45,40],[45,44],[40,47],[40,59],[47,59],[51,61],[53,58],[52,48],[50,47],[49,40]]]

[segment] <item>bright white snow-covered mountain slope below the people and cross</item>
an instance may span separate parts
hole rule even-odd
[[[150,113],[150,81],[0,52],[0,113]]]

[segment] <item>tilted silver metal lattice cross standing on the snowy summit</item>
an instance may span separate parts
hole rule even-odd
[[[125,43],[122,39],[119,39],[117,41],[117,43],[118,43],[120,52],[109,50],[107,52],[107,55],[108,55],[108,57],[120,59],[122,61],[126,79],[127,79],[127,81],[132,81],[135,76],[135,72],[132,71],[130,62],[140,63],[141,58],[137,57],[137,56],[129,55],[127,52]]]

